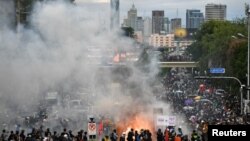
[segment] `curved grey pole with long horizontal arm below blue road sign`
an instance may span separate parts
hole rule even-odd
[[[240,84],[240,114],[243,115],[243,85],[241,81],[236,77],[230,76],[195,76],[195,79],[234,79]]]

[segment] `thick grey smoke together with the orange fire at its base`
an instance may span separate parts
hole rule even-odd
[[[13,28],[14,14],[13,2],[0,2],[1,127],[32,128],[28,121],[87,130],[94,117],[110,119],[119,132],[155,132],[153,109],[172,114],[157,100],[164,93],[157,56],[143,65],[144,49],[110,29],[109,4],[38,1],[28,27]]]

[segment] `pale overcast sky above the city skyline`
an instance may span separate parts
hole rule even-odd
[[[75,0],[77,3],[109,3],[110,0]],[[120,0],[120,18],[127,17],[127,11],[132,4],[137,8],[138,16],[151,16],[152,10],[164,10],[165,16],[182,18],[185,24],[186,9],[199,9],[205,15],[205,5],[208,3],[227,5],[227,19],[232,20],[245,16],[245,3],[250,0]],[[108,5],[107,5],[108,6]]]

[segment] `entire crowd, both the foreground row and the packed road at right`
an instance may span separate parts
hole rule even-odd
[[[101,138],[98,136],[98,140],[207,141],[208,125],[249,124],[239,114],[240,106],[237,105],[237,102],[235,103],[235,101],[239,101],[238,97],[232,96],[230,93],[216,95],[214,88],[211,85],[207,86],[203,91],[200,91],[199,85],[201,82],[193,79],[193,77],[185,71],[171,71],[162,82],[166,92],[161,99],[172,105],[173,112],[185,115],[192,133],[185,134],[181,128],[166,127],[164,131],[162,131],[162,129],[156,129],[157,131],[155,132],[143,129],[140,131],[131,129],[128,133],[123,132],[118,135],[114,129],[110,135],[105,134],[101,136]],[[206,82],[202,83],[206,85]],[[207,89],[209,91],[207,91]],[[202,99],[206,99],[207,101],[199,102],[198,100],[197,102],[193,97],[190,101],[189,96],[193,94],[202,97]],[[20,128],[10,131],[3,129],[0,141],[87,141],[88,139],[96,138],[89,136],[84,130],[77,132],[75,130],[72,132],[72,130],[67,130],[66,128],[61,132],[51,132],[50,130],[50,128],[44,130],[43,126],[38,129],[33,128],[30,131],[25,131],[24,129],[21,130]]]

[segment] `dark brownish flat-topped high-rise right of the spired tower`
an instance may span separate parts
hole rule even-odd
[[[161,31],[164,31],[164,11],[152,11],[152,33],[160,34]]]

